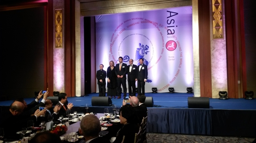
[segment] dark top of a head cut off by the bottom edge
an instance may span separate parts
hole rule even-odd
[[[57,134],[45,131],[37,133],[28,143],[61,143],[61,139]]]

